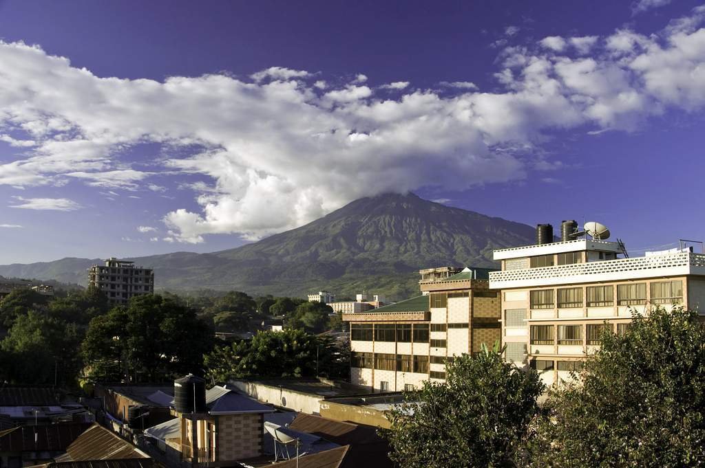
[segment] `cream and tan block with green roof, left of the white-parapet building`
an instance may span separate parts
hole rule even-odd
[[[422,270],[425,272],[426,270]],[[446,378],[446,362],[501,339],[501,298],[489,270],[466,268],[442,277],[422,274],[421,296],[362,313],[350,322],[353,384],[403,391]]]

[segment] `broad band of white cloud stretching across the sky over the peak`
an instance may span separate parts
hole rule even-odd
[[[699,15],[658,34],[505,49],[493,92],[471,82],[443,93],[399,85],[376,95],[349,83],[321,92],[312,73],[276,67],[251,80],[101,78],[38,47],[0,43],[0,132],[36,143],[0,163],[0,184],[164,191],[123,153],[168,146],[178,151],[147,163],[165,166],[159,177],[178,175],[197,208],[165,213],[159,237],[198,243],[213,233],[257,239],[384,191],[522,179],[546,167],[536,151],[546,132],[628,131],[669,108],[702,109]]]

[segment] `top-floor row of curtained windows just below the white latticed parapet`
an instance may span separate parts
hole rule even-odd
[[[675,281],[654,282],[650,285],[651,303],[673,304],[683,301],[683,282]],[[614,288],[608,286],[587,286],[587,307],[610,307],[614,305]],[[582,308],[583,289],[560,288],[556,290],[558,308]],[[531,291],[532,309],[556,308],[556,298],[553,289]],[[646,304],[646,283],[630,283],[617,285],[617,305],[644,305]]]

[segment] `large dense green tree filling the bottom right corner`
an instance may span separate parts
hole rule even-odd
[[[705,331],[697,312],[656,309],[606,331],[580,379],[551,391],[527,450],[533,467],[705,464]]]

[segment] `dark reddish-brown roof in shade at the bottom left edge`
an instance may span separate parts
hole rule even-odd
[[[87,422],[63,422],[42,426],[19,426],[0,431],[0,452],[37,450],[63,452],[90,425]],[[36,444],[35,431],[37,433]]]

